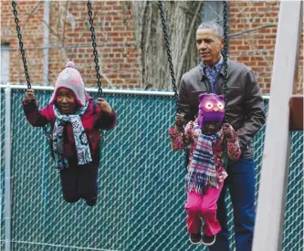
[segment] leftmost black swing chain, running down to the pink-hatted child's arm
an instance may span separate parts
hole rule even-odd
[[[21,56],[22,56],[22,61],[23,61],[23,67],[25,69],[25,73],[26,73],[26,82],[27,82],[27,89],[32,89],[30,80],[29,80],[29,75],[28,75],[28,70],[27,70],[27,65],[26,65],[26,52],[25,49],[23,48],[23,42],[22,42],[22,35],[21,35],[21,28],[19,26],[19,19],[17,17],[18,12],[16,11],[16,2],[12,1],[12,6],[13,6],[13,13],[15,16],[15,23],[16,23],[16,31],[17,31],[17,37],[19,39],[19,47],[20,47],[20,52],[21,52]],[[51,144],[51,138],[49,135],[49,132],[47,131],[47,127],[43,126],[43,132],[47,138],[47,141]]]

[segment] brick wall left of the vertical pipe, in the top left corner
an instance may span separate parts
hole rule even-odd
[[[42,20],[43,18],[43,3],[37,7],[35,13],[32,13],[33,5],[37,5],[37,2],[18,2],[19,26],[23,27],[22,38],[24,47],[35,47],[36,44],[40,44],[41,46],[43,41],[43,33],[38,32],[38,28],[41,24],[40,19]],[[10,81],[25,82],[26,78],[21,55],[17,50],[18,41],[16,37],[16,24],[10,1],[1,2],[1,43],[9,43],[11,49]],[[42,60],[40,60],[42,54],[43,51],[41,49],[26,50],[26,59],[28,67],[30,68],[31,79],[37,80],[37,76],[42,76],[43,71],[41,71],[41,68],[43,68],[43,66]],[[35,66],[35,68],[33,66]]]

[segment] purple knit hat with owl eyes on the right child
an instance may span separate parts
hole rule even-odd
[[[225,115],[225,99],[223,95],[204,93],[198,97],[197,123],[200,129],[204,129],[205,122],[222,123]]]

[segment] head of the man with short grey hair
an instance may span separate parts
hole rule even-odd
[[[204,65],[212,67],[221,58],[224,39],[215,35],[211,29],[198,29],[196,31],[196,47]]]

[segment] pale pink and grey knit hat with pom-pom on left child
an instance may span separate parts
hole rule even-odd
[[[82,81],[79,71],[74,68],[74,63],[69,61],[66,68],[59,73],[55,89],[52,97],[49,99],[49,104],[52,105],[56,102],[58,89],[70,89],[74,93],[74,97],[79,106],[84,106],[86,103],[84,83]]]

